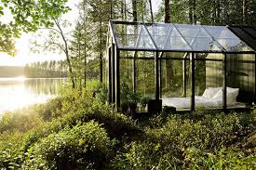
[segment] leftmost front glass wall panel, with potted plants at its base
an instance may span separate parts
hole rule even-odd
[[[129,110],[130,105],[136,104],[137,111],[146,111],[146,102],[153,98],[155,98],[155,53],[121,51],[121,107],[127,106]]]

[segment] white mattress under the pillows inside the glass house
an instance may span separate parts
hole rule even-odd
[[[162,105],[174,107],[176,110],[190,109],[191,98],[162,98]],[[227,107],[246,107],[246,104],[240,102],[229,103]],[[195,96],[195,108],[221,109],[222,99],[212,99]]]

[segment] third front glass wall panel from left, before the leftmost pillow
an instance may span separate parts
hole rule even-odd
[[[223,54],[195,53],[195,110],[223,107]]]

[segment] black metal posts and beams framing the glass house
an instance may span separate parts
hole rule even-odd
[[[135,63],[135,56],[134,57],[120,57],[121,51],[134,51],[134,53],[147,51],[147,52],[154,52],[155,57],[154,58],[136,58],[136,59],[154,59],[155,60],[155,100],[159,100],[162,97],[162,65],[161,61],[164,59],[173,59],[173,60],[183,60],[183,88],[184,88],[184,96],[186,96],[186,60],[190,61],[190,72],[191,72],[191,111],[195,111],[195,60],[212,60],[212,61],[222,61],[223,63],[223,110],[227,110],[227,102],[226,102],[226,91],[227,91],[227,54],[254,54],[256,59],[256,52],[253,51],[237,51],[237,52],[227,52],[227,51],[193,51],[193,50],[159,50],[157,49],[155,42],[155,49],[142,49],[142,48],[129,48],[129,47],[119,47],[116,44],[116,38],[115,38],[115,32],[113,31],[113,23],[120,23],[120,24],[141,24],[141,22],[127,22],[127,21],[110,21],[110,32],[112,33],[112,39],[113,39],[113,45],[108,49],[109,51],[109,101],[111,103],[115,103],[115,109],[118,111],[120,108],[120,59],[133,59],[134,61],[134,67],[133,72],[136,72],[136,63]],[[145,24],[145,23],[143,23]],[[151,24],[151,23],[146,23]],[[147,31],[148,32],[148,31]],[[187,54],[190,54],[190,58],[187,59],[184,58],[162,58],[163,54],[166,52],[183,52]],[[160,55],[159,55],[160,53]],[[216,53],[216,54],[223,54],[223,59],[195,59],[196,53]],[[253,61],[252,61],[253,62]],[[255,62],[255,60],[254,60]],[[135,68],[135,69],[134,69]],[[133,73],[133,81],[134,81],[134,91],[136,88],[136,74]],[[256,62],[255,62],[255,81],[256,81]],[[255,83],[255,90],[256,90],[256,83]],[[256,102],[256,95],[255,95],[255,102]]]

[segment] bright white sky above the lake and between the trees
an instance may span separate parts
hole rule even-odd
[[[152,0],[153,11],[155,12],[160,5],[162,0]],[[69,21],[74,21],[74,16],[77,16],[77,10],[75,10],[75,4],[77,0],[70,0],[68,6],[73,10],[68,14],[65,14],[66,19]],[[9,20],[10,16],[5,15],[5,19]],[[51,52],[40,52],[33,53],[30,52],[30,39],[34,39],[33,33],[24,33],[21,35],[20,39],[16,40],[17,54],[15,57],[8,56],[6,53],[0,53],[0,66],[24,66],[27,63],[52,60],[52,59],[65,59],[63,54],[51,53]]]

